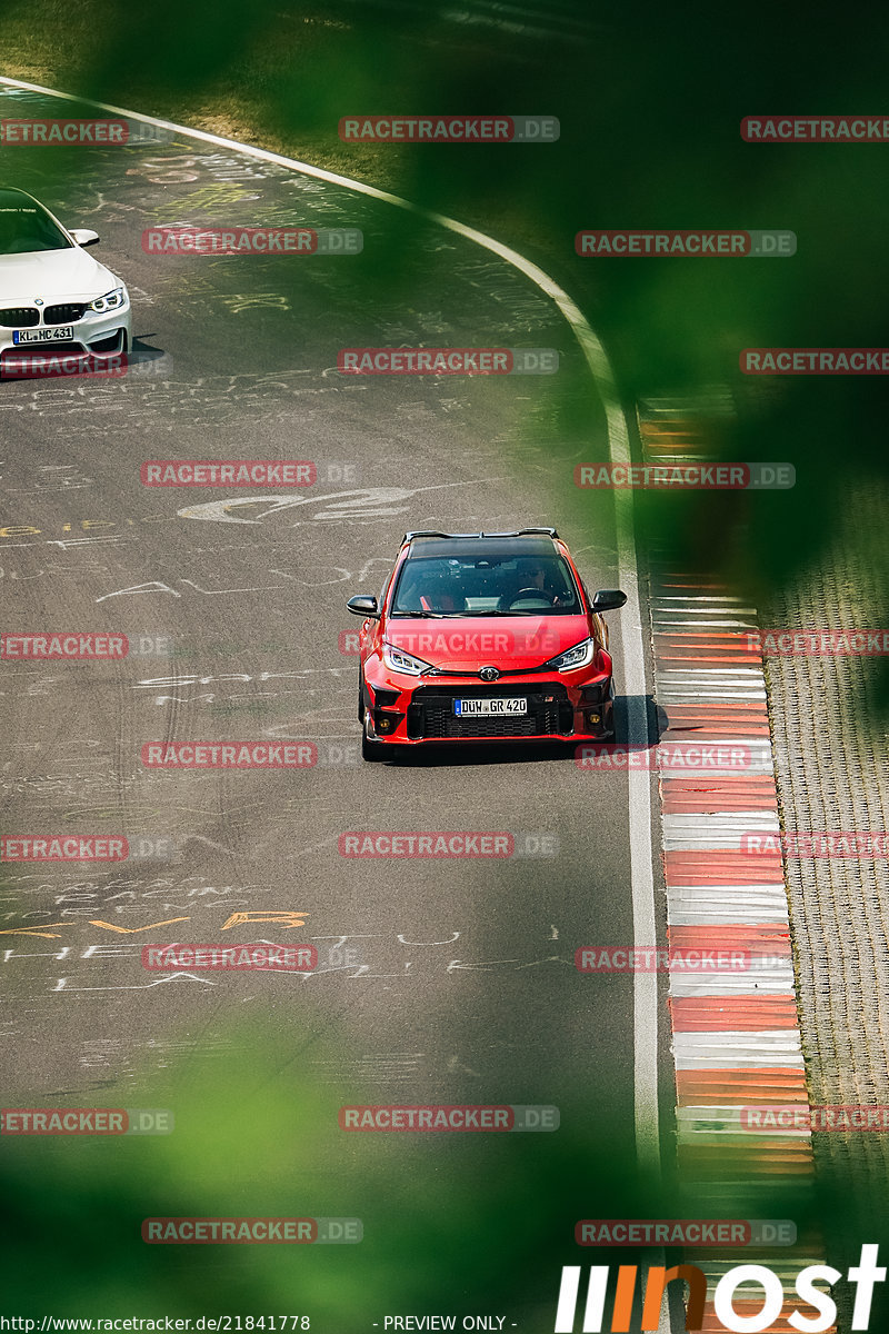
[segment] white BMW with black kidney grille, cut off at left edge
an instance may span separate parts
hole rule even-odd
[[[67,231],[23,189],[0,188],[0,366],[23,354],[128,352],[129,295],[87,253],[97,240]]]

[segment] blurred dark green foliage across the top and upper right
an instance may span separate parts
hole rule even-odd
[[[516,244],[580,300],[628,404],[726,386],[738,419],[724,456],[789,460],[797,486],[734,512],[712,496],[670,506],[653,534],[680,560],[705,547],[710,566],[728,564],[761,596],[822,548],[849,482],[885,476],[886,382],[753,383],[738,354],[889,343],[889,173],[878,144],[754,145],[740,121],[878,112],[889,11],[852,4],[837,23],[800,3],[754,4],[741,17],[701,3],[618,11],[577,0],[548,19],[529,0],[497,27],[497,9],[488,0],[84,0],[73,9],[7,0],[0,40],[11,69],[29,60],[69,91],[303,155]],[[580,24],[573,40],[566,15]],[[505,147],[337,137],[344,115],[431,111],[556,115],[561,137]],[[404,219],[393,213],[392,227]],[[581,259],[573,237],[586,227],[790,228],[798,251]],[[399,284],[397,247],[377,280],[381,272]]]

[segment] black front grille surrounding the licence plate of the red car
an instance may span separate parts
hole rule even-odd
[[[458,718],[454,699],[528,700],[526,714],[486,714]],[[564,686],[435,686],[415,690],[408,710],[408,736],[415,740],[460,738],[570,736],[574,714]]]

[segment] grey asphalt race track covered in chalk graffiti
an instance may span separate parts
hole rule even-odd
[[[77,113],[9,92],[3,107]],[[545,1177],[590,1125],[609,1154],[630,1154],[633,979],[573,966],[581,944],[633,942],[625,775],[584,772],[564,747],[365,764],[344,639],[360,626],[347,598],[379,592],[408,528],[554,524],[586,583],[616,586],[612,502],[572,483],[574,464],[606,458],[608,442],[565,321],[458,236],[199,141],[12,152],[7,184],[100,233],[93,253],[133,299],[136,362],[119,380],[0,384],[4,627],[119,632],[153,650],[3,663],[4,834],[125,835],[160,855],[4,867],[7,1105],[168,1106],[184,1161],[201,1142],[204,1090],[229,1089],[232,1145],[277,1134],[292,1102],[312,1131],[291,1211],[360,1217],[368,1246],[387,1199],[351,1194],[344,1163],[385,1179],[407,1159],[433,1191],[472,1162],[480,1137],[349,1138],[344,1103],[557,1107],[561,1138],[481,1137],[492,1175],[533,1161]],[[152,225],[211,223],[359,228],[363,249],[143,249]],[[431,342],[554,348],[560,368],[336,368],[344,347]],[[153,488],[140,480],[153,459],[311,460],[317,480]],[[169,740],[312,743],[317,763],[143,766],[145,743]],[[514,851],[349,858],[347,831],[508,832]],[[660,923],[660,898],[657,911]],[[309,943],[319,966],[159,974],[141,963],[149,942],[220,940]],[[251,1187],[249,1154],[232,1149],[228,1166],[240,1213],[275,1213]],[[179,1203],[155,1211],[187,1213]],[[580,1191],[574,1205],[566,1237],[589,1213]],[[614,1199],[598,1205],[621,1215]],[[227,1265],[247,1265],[244,1253],[233,1247]],[[189,1263],[211,1263],[196,1255]],[[552,1302],[552,1275],[541,1293]],[[505,1327],[522,1314],[502,1309]]]

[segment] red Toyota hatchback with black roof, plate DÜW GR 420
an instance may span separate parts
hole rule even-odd
[[[380,602],[352,598],[361,754],[429,742],[605,740],[612,659],[601,612],[554,528],[408,532]]]

